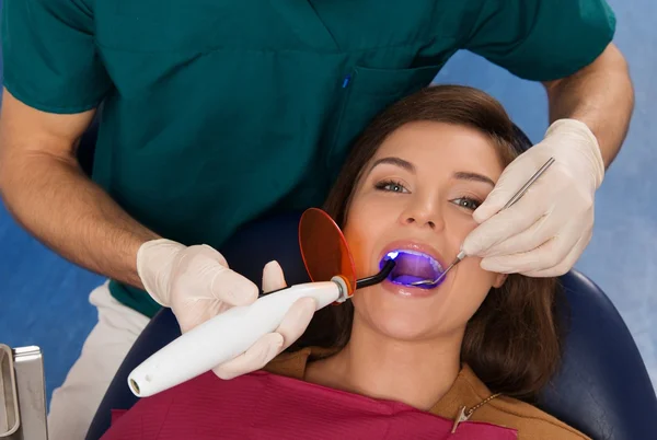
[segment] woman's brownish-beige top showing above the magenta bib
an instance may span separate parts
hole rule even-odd
[[[292,354],[283,354],[269,362],[265,370],[274,374],[303,380],[310,355],[320,355],[325,351],[322,348],[304,348]],[[465,414],[476,407],[469,420],[516,429],[520,440],[590,440],[589,437],[551,415],[516,398],[498,396],[486,402],[492,394],[472,369],[463,366],[450,390],[434,405],[430,413],[457,420],[463,407]],[[477,407],[477,405],[481,406]]]

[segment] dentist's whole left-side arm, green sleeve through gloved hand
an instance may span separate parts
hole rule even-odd
[[[2,3],[7,90],[0,114],[0,196],[48,247],[90,270],[143,288],[171,306],[186,331],[227,308],[255,301],[258,289],[230,270],[211,247],[160,239],[78,166],[78,139],[94,115],[84,109],[114,88],[99,51],[94,5],[92,0]],[[295,310],[287,329],[265,336],[220,371],[253,371],[277,352],[281,338],[302,333],[303,320],[314,309],[301,304],[301,313]]]

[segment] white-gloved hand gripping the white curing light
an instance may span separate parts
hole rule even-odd
[[[208,245],[187,247],[163,239],[146,242],[137,253],[137,271],[153,300],[171,308],[183,333],[232,306],[251,304],[258,294],[253,282],[231,270],[226,258]],[[263,270],[263,290],[284,287],[280,266],[268,263]],[[303,334],[315,308],[312,298],[298,300],[274,333],[212,371],[221,379],[232,379],[262,369]]]

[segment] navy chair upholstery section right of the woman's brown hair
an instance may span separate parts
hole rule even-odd
[[[569,309],[564,362],[539,406],[595,440],[657,438],[655,389],[623,319],[585,275],[561,279]]]

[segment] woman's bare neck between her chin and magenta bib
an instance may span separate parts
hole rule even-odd
[[[308,366],[306,380],[430,409],[459,371],[462,333],[440,339],[391,339],[355,319],[351,338],[335,356]]]

